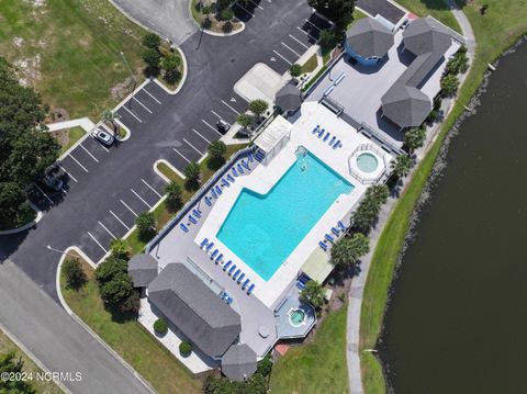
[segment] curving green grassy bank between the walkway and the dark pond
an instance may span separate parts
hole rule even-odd
[[[421,0],[407,0],[422,4]],[[444,123],[433,148],[419,164],[412,182],[395,205],[377,245],[370,267],[362,301],[360,320],[361,349],[375,346],[381,333],[388,289],[393,279],[397,256],[408,230],[410,217],[423,188],[430,175],[441,144],[456,120],[464,111],[472,95],[483,80],[486,65],[498,57],[527,32],[527,0],[489,0],[486,15],[479,12],[483,1],[473,1],[463,7],[472,24],[478,42],[476,57],[466,83],[459,92],[458,101]],[[412,10],[412,5],[408,8]],[[382,369],[371,353],[362,353],[362,380],[368,394],[384,393],[385,383]]]

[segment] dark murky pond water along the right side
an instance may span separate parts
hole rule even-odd
[[[527,393],[527,45],[446,155],[380,346],[395,393]]]

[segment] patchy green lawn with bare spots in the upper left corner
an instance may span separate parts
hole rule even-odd
[[[0,54],[70,117],[98,120],[130,93],[120,52],[141,79],[143,34],[106,0],[0,0]]]

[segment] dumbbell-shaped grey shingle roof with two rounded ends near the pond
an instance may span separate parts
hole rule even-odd
[[[404,49],[416,55],[408,68],[381,98],[382,113],[401,127],[421,125],[431,100],[419,88],[452,44],[448,30],[430,18],[412,22],[403,32]]]

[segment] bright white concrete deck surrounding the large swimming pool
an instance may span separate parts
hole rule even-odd
[[[350,173],[348,158],[358,146],[373,143],[318,103],[304,103],[301,112],[302,115],[298,117],[293,124],[291,139],[266,166],[258,166],[250,176],[238,178],[231,188],[224,190],[222,198],[214,204],[206,221],[194,238],[198,245],[204,238],[213,240],[215,247],[224,254],[224,261],[233,260],[233,262],[245,272],[246,277],[256,284],[251,296],[258,297],[268,307],[271,307],[291,282],[296,279],[300,268],[312,254],[313,249],[318,248],[318,241],[323,239],[324,234],[330,233],[330,227],[335,226],[335,224],[349,212],[351,206],[357,203],[367,189],[366,184],[362,184]],[[341,140],[343,147],[333,149],[327,142],[324,143],[322,138],[313,135],[312,130],[317,124],[330,132],[332,136],[336,135],[337,138]],[[277,183],[296,160],[295,150],[301,145],[354,184],[355,189],[349,194],[341,194],[337,198],[335,203],[319,218],[272,278],[269,281],[265,281],[239,257],[231,251],[226,245],[217,239],[216,234],[242,190],[247,188],[260,194],[269,192],[274,183]],[[391,159],[392,156],[384,153],[384,161],[386,165]],[[380,161],[383,162],[382,160]],[[384,168],[380,166],[377,171],[380,173],[383,170]],[[368,176],[371,176],[371,173]]]

